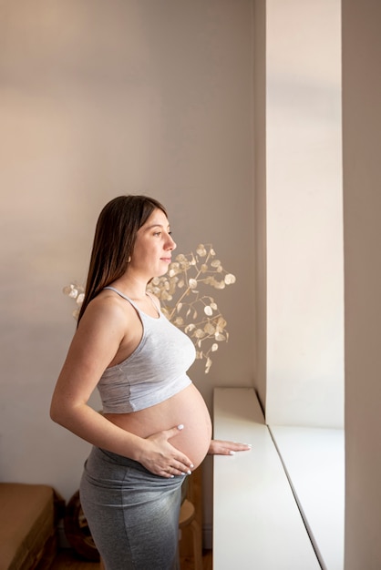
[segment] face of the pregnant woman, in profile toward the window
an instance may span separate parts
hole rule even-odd
[[[167,216],[155,209],[138,230],[129,268],[147,274],[148,279],[160,277],[167,272],[175,248]]]

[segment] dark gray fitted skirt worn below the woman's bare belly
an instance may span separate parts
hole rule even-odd
[[[166,479],[93,447],[79,493],[106,570],[177,570],[184,477]]]

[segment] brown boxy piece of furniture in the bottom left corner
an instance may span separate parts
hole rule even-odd
[[[65,501],[45,484],[0,483],[0,570],[46,570]]]

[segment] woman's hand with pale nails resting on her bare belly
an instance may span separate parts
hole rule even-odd
[[[145,439],[148,444],[139,456],[139,463],[144,465],[151,473],[160,477],[174,477],[175,475],[190,475],[193,463],[169,442],[170,438],[178,435],[184,428],[178,425],[170,430],[153,433]]]

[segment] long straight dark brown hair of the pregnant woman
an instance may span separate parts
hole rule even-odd
[[[125,273],[138,229],[155,209],[160,209],[167,216],[167,211],[160,202],[147,196],[118,196],[102,209],[95,231],[85,298],[79,311],[78,323],[90,300]]]

